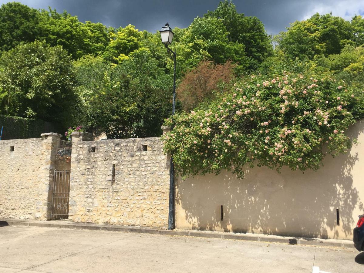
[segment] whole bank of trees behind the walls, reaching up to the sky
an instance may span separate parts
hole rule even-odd
[[[0,23],[0,114],[81,124],[109,138],[161,133],[171,112],[173,60],[159,32],[82,23],[66,11],[15,2],[1,6]],[[361,16],[345,21],[316,14],[296,21],[275,37],[274,51],[261,21],[238,13],[227,0],[173,31],[170,48],[177,52],[177,90],[184,90],[178,98],[185,109],[213,104],[215,93],[229,86],[226,75],[242,84],[256,70],[266,78],[281,71],[332,75],[353,90],[364,89]],[[215,68],[232,62],[234,75],[196,69],[206,60]]]

